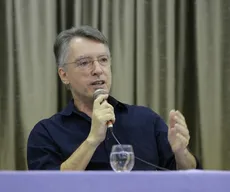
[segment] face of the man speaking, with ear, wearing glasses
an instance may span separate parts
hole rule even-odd
[[[69,83],[78,99],[92,99],[97,89],[111,87],[110,53],[106,45],[77,37],[71,40],[65,69],[59,68],[63,82]]]

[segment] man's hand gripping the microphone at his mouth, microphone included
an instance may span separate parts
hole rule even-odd
[[[108,94],[104,90],[94,93],[94,104],[92,113],[92,125],[88,138],[99,145],[104,141],[107,127],[115,122],[113,106],[107,102]]]

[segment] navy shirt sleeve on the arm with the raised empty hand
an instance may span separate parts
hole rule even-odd
[[[176,159],[168,141],[168,126],[158,117],[155,122],[156,139],[159,153],[159,165],[169,170],[176,170]],[[196,159],[196,169],[202,169],[198,158]]]

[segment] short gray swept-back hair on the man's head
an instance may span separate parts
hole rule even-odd
[[[108,46],[107,38],[96,28],[85,25],[64,30],[57,36],[53,47],[57,67],[64,66],[68,56],[69,43],[75,37],[96,40]]]

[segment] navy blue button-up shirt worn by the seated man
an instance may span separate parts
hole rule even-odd
[[[162,118],[147,107],[123,104],[111,96],[108,102],[114,107],[113,132],[120,143],[132,145],[135,156],[149,163],[175,170],[175,157],[167,139],[168,127]],[[39,121],[28,138],[28,169],[60,170],[60,165],[87,138],[90,127],[91,118],[78,111],[73,100],[63,111]],[[112,170],[109,155],[115,144],[108,130],[86,170]],[[198,161],[197,168],[200,168]],[[156,168],[135,159],[133,170]]]

